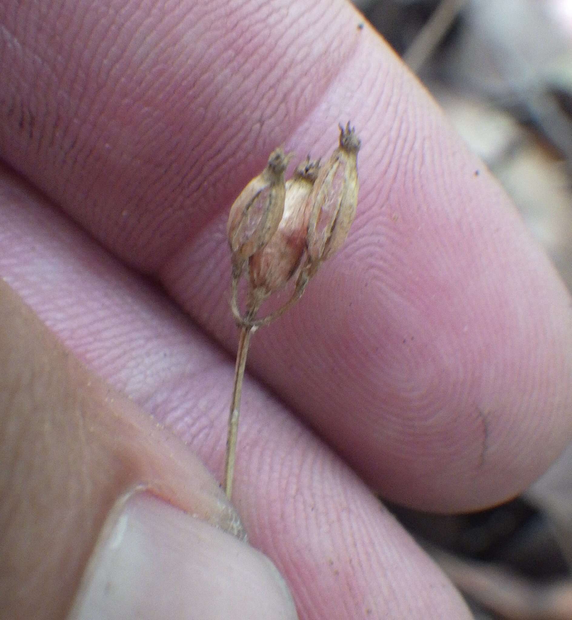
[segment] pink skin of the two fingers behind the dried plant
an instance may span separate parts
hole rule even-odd
[[[468,510],[570,441],[571,300],[506,195],[341,0],[43,6],[0,10],[0,155],[25,179],[2,174],[0,277],[220,478],[228,209],[275,146],[327,157],[351,120],[357,218],[252,340],[235,502],[301,618],[466,617],[351,468]]]

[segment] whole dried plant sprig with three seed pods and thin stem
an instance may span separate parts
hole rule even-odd
[[[300,164],[292,179],[284,171],[292,158],[282,148],[236,198],[228,218],[232,253],[231,308],[240,328],[235,381],[228,420],[224,488],[230,498],[235,469],[236,435],[246,355],[252,332],[283,314],[302,296],[321,263],[346,240],[355,217],[359,182],[354,128],[340,125],[339,146],[326,164]],[[247,270],[246,312],[238,304],[238,285]],[[257,313],[273,293],[295,281],[292,296],[265,317]]]

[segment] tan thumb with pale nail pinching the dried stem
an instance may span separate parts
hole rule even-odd
[[[297,618],[202,463],[3,280],[0,461],[2,618]]]

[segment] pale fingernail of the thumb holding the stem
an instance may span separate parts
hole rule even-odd
[[[295,620],[266,556],[148,493],[111,515],[69,620]]]

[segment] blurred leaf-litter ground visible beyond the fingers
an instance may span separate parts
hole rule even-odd
[[[511,194],[572,290],[572,0],[354,4]],[[572,447],[505,505],[393,511],[478,620],[572,620]]]

